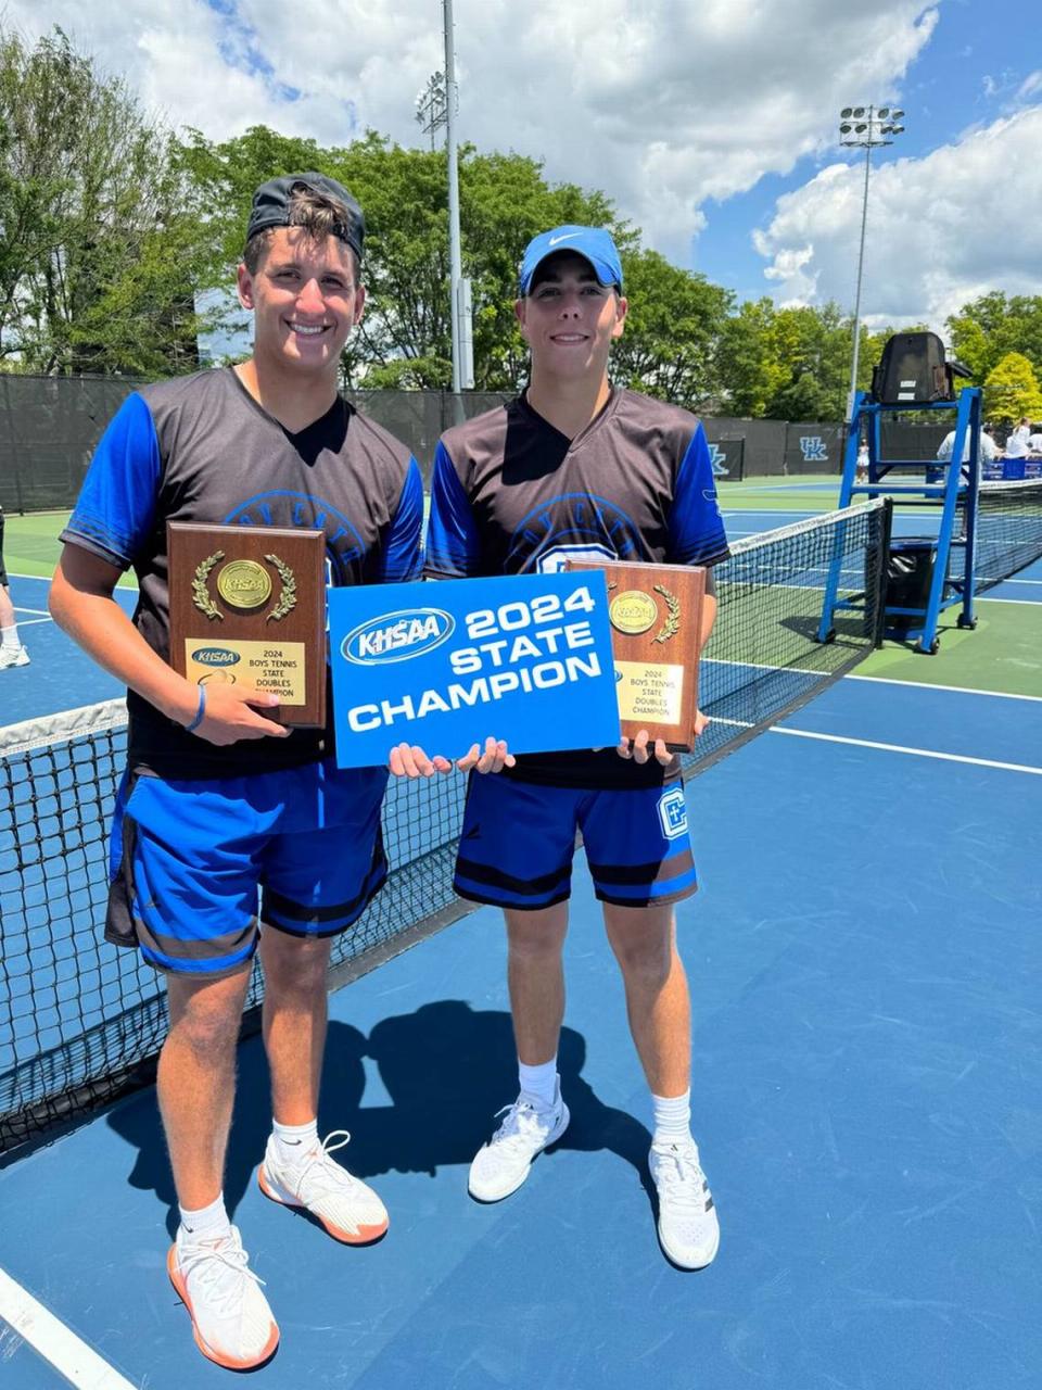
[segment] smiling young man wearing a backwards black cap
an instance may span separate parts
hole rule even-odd
[[[63,532],[51,589],[56,620],[129,687],[107,935],[167,977],[158,1099],[181,1208],[168,1269],[200,1350],[235,1369],[278,1343],[221,1191],[258,944],[275,1122],[260,1187],[342,1241],[367,1243],[388,1226],[379,1197],[331,1158],[343,1131],[331,1143],[317,1130],[329,942],[383,883],[388,773],[339,770],[331,730],[288,733],[268,717],[275,696],[174,673],[165,523],[317,527],[332,585],[417,575],[415,460],[338,393],[365,299],[363,238],[361,208],[332,179],[300,174],[257,190],[238,272],[254,316],[251,357],[125,402]],[[132,621],[113,600],[131,567],[140,585]]]

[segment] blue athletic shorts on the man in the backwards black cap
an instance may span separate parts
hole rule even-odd
[[[158,970],[215,977],[253,956],[258,920],[293,937],[345,931],[388,874],[386,780],[332,760],[214,781],[128,774],[107,940],[139,947]]]

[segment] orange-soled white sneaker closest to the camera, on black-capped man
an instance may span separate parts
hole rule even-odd
[[[239,1232],[220,1240],[196,1241],[178,1229],[167,1255],[167,1270],[192,1318],[196,1346],[229,1371],[249,1371],[267,1361],[279,1344],[279,1330],[263,1282],[247,1268]]]

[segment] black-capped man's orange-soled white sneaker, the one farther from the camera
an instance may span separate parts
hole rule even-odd
[[[304,1207],[335,1240],[365,1245],[388,1229],[388,1209],[371,1187],[352,1177],[329,1156],[349,1143],[347,1130],[333,1130],[297,1163],[281,1163],[275,1136],[268,1138],[257,1183],[265,1197],[283,1207]],[[339,1144],[329,1140],[339,1138]]]

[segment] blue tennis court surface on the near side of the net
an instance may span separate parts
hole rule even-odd
[[[1029,701],[847,680],[788,727],[874,739],[895,694],[900,742],[1003,762],[1009,720],[1042,770]],[[572,1126],[508,1201],[465,1194],[514,1091],[495,912],[332,998],[322,1125],[354,1133],[388,1202],[377,1247],[257,1191],[267,1080],[243,1047],[226,1194],[282,1327],[258,1386],[1038,1384],[1042,776],[771,733],[689,803],[703,890],[679,937],[716,1264],[685,1275],[659,1251],[647,1097],[582,872]],[[150,1093],[0,1172],[0,1268],[147,1390],[228,1383],[167,1283],[172,1201]],[[11,1333],[0,1354],[19,1390],[63,1383]]]

